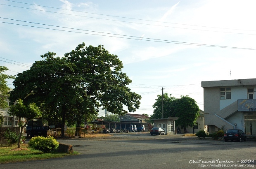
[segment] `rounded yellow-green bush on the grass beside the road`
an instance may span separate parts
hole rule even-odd
[[[50,153],[59,147],[59,142],[52,136],[48,137],[33,137],[28,142],[28,146],[33,150],[43,151],[43,153]]]

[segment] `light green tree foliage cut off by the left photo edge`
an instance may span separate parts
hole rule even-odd
[[[14,79],[14,76],[9,76],[7,74],[4,74],[4,72],[7,70],[9,70],[7,67],[0,66],[0,95],[1,95],[1,97],[9,96],[8,93],[10,91],[10,88],[7,86],[6,79]],[[5,109],[7,107],[8,107],[7,102],[4,99],[0,99],[0,108]],[[0,123],[0,124],[2,124],[2,123]]]

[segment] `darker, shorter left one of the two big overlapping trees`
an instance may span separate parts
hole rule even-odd
[[[30,69],[17,74],[10,100],[15,102],[21,98],[26,105],[35,102],[49,120],[62,124],[64,137],[66,113],[73,111],[78,91],[73,65],[66,58],[55,56],[56,53],[48,52],[41,56],[44,60],[36,61]]]

